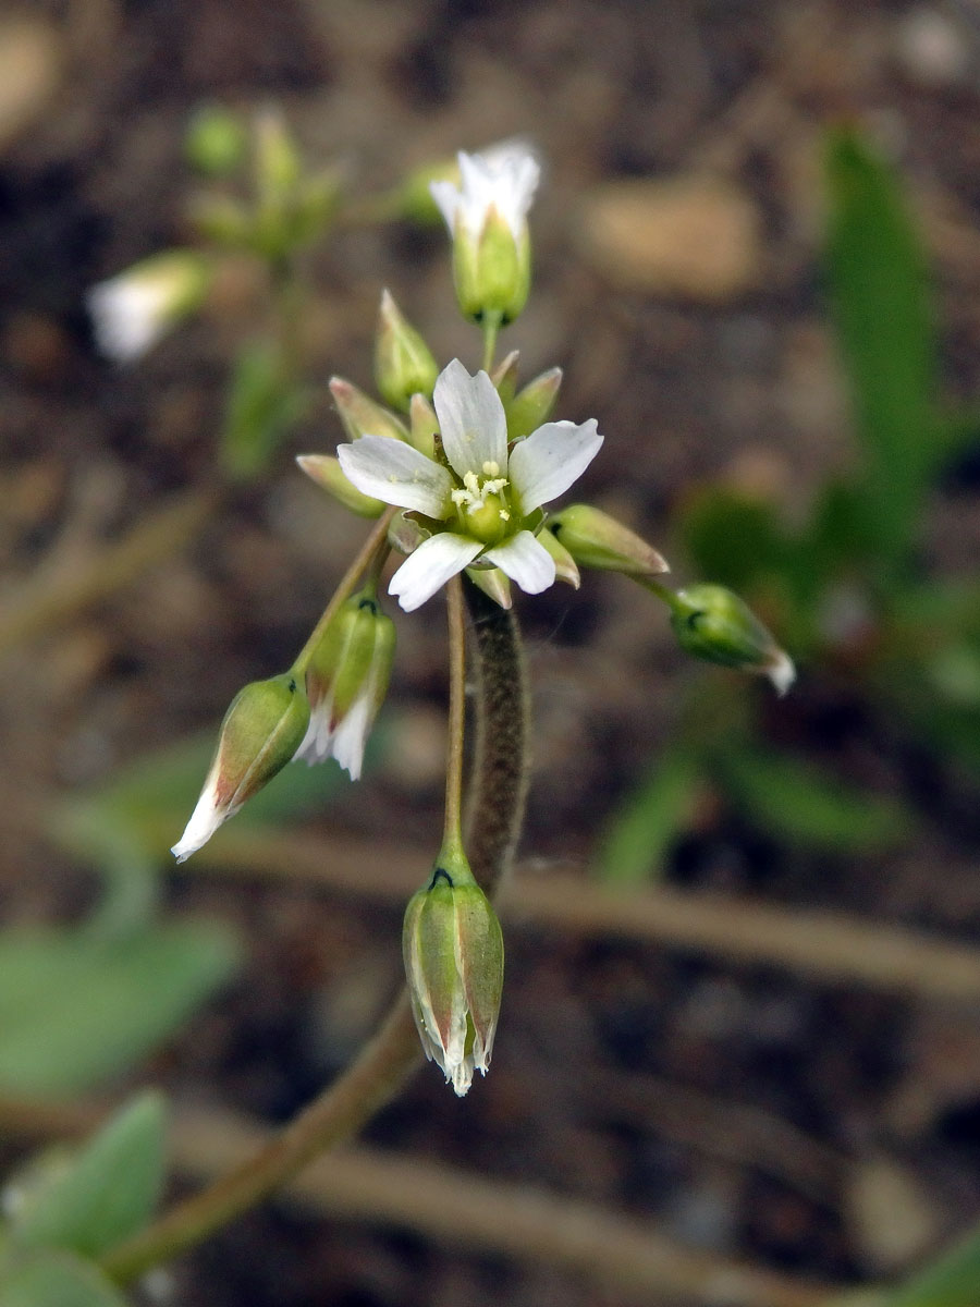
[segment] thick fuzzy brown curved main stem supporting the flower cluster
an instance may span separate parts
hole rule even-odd
[[[528,697],[514,617],[474,586],[468,584],[465,593],[477,651],[470,863],[481,886],[490,891],[507,868],[524,813]],[[203,1243],[359,1129],[399,1089],[419,1056],[408,996],[402,992],[374,1039],[329,1089],[247,1162],[111,1249],[102,1260],[106,1273],[125,1283]]]

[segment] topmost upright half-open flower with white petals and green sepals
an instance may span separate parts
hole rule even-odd
[[[466,318],[512,322],[531,289],[527,214],[541,169],[523,142],[483,154],[460,154],[460,186],[430,191],[452,237],[456,297]]]

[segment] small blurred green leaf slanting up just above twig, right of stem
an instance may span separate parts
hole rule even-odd
[[[668,750],[614,816],[596,855],[596,870],[610,885],[659,877],[670,843],[687,822],[698,789],[698,759],[683,748]]]

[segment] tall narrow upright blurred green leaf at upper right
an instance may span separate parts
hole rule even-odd
[[[849,129],[830,137],[832,318],[865,461],[882,575],[899,571],[941,452],[936,341],[923,251],[892,170]]]

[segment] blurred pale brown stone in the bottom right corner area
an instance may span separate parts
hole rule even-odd
[[[938,1238],[936,1204],[894,1158],[869,1157],[851,1174],[845,1193],[851,1236],[869,1270],[903,1270]]]

